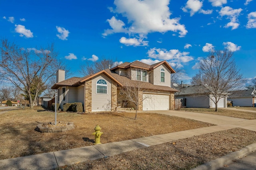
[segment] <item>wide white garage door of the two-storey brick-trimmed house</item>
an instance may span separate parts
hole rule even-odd
[[[143,94],[143,110],[169,110],[169,95]]]

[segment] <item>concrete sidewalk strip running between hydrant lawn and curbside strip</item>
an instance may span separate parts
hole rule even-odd
[[[115,143],[106,143],[93,145],[76,149],[60,150],[43,154],[18,157],[0,160],[0,169],[3,170],[50,170],[58,166],[75,164],[86,160],[96,160],[104,156],[114,156],[120,153],[128,152],[135,149],[141,149],[152,145],[158,145],[183,139],[187,137],[198,136],[206,133],[232,129],[228,126],[211,126],[188,131],[180,131],[128,141]]]

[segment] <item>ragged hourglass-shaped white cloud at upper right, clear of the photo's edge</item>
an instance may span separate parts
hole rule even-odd
[[[237,18],[240,15],[241,11],[242,11],[242,8],[233,9],[229,6],[225,6],[224,8],[221,8],[219,14],[221,16],[228,16],[228,19],[230,19],[230,22],[227,23],[224,27],[225,28],[232,27],[232,30],[238,28],[240,24],[238,23]]]

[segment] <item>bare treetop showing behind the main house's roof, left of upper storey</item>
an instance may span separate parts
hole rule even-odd
[[[105,57],[102,57],[100,60],[92,62],[92,61],[86,61],[85,64],[82,64],[80,66],[79,72],[86,76],[89,74],[95,74],[97,72],[100,72],[101,70],[109,68],[109,66],[112,68],[117,65],[118,62],[113,59],[106,59]]]

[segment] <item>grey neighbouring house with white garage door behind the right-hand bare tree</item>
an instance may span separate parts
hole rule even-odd
[[[180,92],[176,92],[175,104],[182,104],[184,107],[202,107],[202,108],[215,108],[215,98],[208,90],[207,85],[180,85],[177,87]],[[218,101],[218,108],[227,107],[227,94]]]

